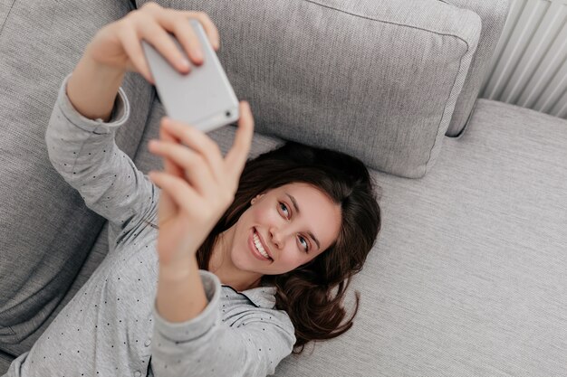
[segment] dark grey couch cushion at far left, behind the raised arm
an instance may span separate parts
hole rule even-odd
[[[0,16],[0,349],[16,346],[50,316],[103,225],[57,174],[44,135],[62,79],[91,37],[130,11],[127,1],[3,1]],[[124,84],[136,97],[117,137],[133,155],[151,87]],[[141,126],[141,127],[140,127]]]

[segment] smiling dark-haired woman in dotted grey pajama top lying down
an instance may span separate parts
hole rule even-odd
[[[187,71],[175,33],[202,62],[189,17],[217,50],[206,14],[150,4],[102,28],[63,80],[49,158],[109,220],[109,253],[7,376],[264,376],[294,346],[351,327],[358,293],[346,322],[342,298],[380,230],[359,160],[288,143],[246,163],[245,102],[225,157],[167,118],[149,143],[162,172],[142,174],[114,143],[130,115],[124,72],[152,82],[140,39]]]

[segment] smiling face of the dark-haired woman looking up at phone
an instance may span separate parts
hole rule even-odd
[[[283,274],[331,246],[340,227],[339,204],[310,184],[286,184],[256,196],[240,216],[231,258],[238,269]]]

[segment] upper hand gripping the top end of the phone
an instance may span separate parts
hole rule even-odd
[[[168,32],[176,36],[194,64],[201,64],[203,52],[197,34],[188,22],[189,18],[195,18],[203,25],[209,41],[217,51],[220,43],[218,31],[207,14],[178,11],[147,3],[99,30],[87,46],[83,57],[117,71],[138,72],[155,84],[141,47],[143,39],[178,71],[187,73],[190,70],[188,61],[179,52]]]

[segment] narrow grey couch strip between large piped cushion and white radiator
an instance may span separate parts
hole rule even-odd
[[[459,8],[470,9],[480,16],[483,27],[476,48],[475,56],[471,61],[463,90],[456,100],[455,111],[451,124],[445,135],[456,137],[466,129],[472,109],[480,87],[491,64],[491,57],[495,52],[496,44],[504,30],[506,15],[512,2],[510,0],[442,0],[447,4]]]

